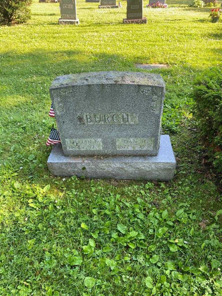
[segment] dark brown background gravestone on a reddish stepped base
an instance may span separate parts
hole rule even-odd
[[[123,24],[146,24],[147,18],[143,17],[143,0],[127,0],[126,19]]]

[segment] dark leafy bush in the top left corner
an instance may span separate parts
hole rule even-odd
[[[32,0],[0,0],[0,24],[14,25],[29,20],[31,3]]]

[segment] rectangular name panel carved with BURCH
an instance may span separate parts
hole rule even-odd
[[[78,113],[78,124],[139,124],[139,112]]]

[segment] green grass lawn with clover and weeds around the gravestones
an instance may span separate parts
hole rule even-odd
[[[144,8],[147,25],[123,25],[121,3],[77,1],[76,27],[57,25],[58,4],[34,0],[28,23],[0,27],[0,295],[222,295],[222,199],[190,98],[196,75],[222,65],[222,23],[169,0]],[[50,83],[143,71],[135,63],[170,65],[153,72],[167,83],[173,181],[50,176]]]

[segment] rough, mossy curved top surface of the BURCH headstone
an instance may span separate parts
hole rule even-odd
[[[159,86],[165,89],[165,82],[159,74],[130,71],[105,71],[62,75],[55,78],[50,89],[89,84],[138,84]]]

